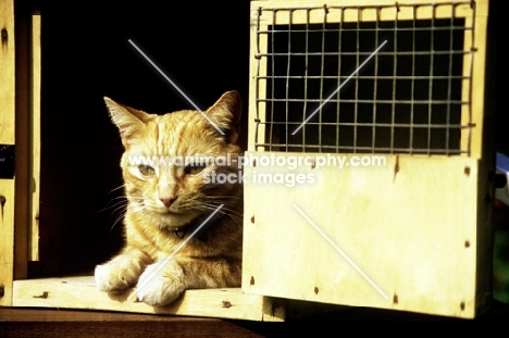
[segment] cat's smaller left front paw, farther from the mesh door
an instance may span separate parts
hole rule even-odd
[[[137,274],[112,261],[102,265],[97,265],[94,273],[96,286],[101,291],[119,291],[133,286],[136,283]]]

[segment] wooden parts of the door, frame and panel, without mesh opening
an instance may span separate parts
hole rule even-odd
[[[435,15],[449,17],[450,11],[442,11],[439,7],[448,2],[434,1]],[[268,58],[260,58],[268,52],[268,40],[257,30],[269,30],[268,25],[273,23],[288,24],[286,9],[291,9],[295,24],[306,20],[322,23],[323,5],[321,1],[307,1],[306,5],[278,0],[251,2],[251,115],[246,155],[253,160],[245,168],[243,289],[287,299],[468,318],[485,313],[491,304],[493,236],[493,186],[488,179],[493,151],[486,137],[489,125],[485,125],[492,114],[485,100],[488,1],[475,2],[474,30],[464,33],[463,49],[475,51],[473,57],[465,54],[463,62],[464,74],[470,74],[472,66],[471,88],[462,86],[462,96],[471,107],[461,113],[462,123],[474,126],[470,135],[465,130],[461,134],[462,147],[468,145],[469,153],[387,154],[385,165],[380,167],[342,168],[316,167],[319,158],[330,154],[274,153],[254,146],[264,143],[266,127],[261,125],[258,134],[254,130],[257,122],[265,121],[266,111],[263,102],[266,82],[258,76],[268,74]],[[347,0],[338,5],[352,9],[387,5],[380,10],[382,20],[413,15],[409,8],[398,8],[396,13],[394,1]],[[467,23],[471,23],[471,5],[465,1],[457,7],[456,15],[464,15]],[[311,8],[316,10],[310,12]],[[260,9],[281,12],[269,11],[266,16],[271,17],[263,18]],[[327,23],[338,21],[339,13],[328,9]],[[357,12],[352,13],[355,17],[345,14],[343,18],[357,20]],[[418,14],[419,18],[431,16],[429,10]],[[362,20],[374,20],[375,15],[374,10],[365,11]],[[307,165],[295,168],[273,163],[261,165],[263,158],[271,157],[312,160],[302,161]],[[333,157],[343,158],[348,165],[357,155]],[[278,184],[266,184],[268,177],[274,175],[311,176],[312,184],[287,187],[281,179]],[[257,181],[257,177],[263,178]],[[327,234],[328,243],[310,223]],[[338,247],[347,252],[343,258]],[[357,263],[361,267],[355,266]],[[364,277],[361,271],[365,271]]]

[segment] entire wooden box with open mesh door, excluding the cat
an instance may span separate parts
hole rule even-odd
[[[80,45],[67,40],[65,49],[45,54],[46,42],[62,45],[62,37],[54,38],[62,27],[74,29],[75,22],[86,20],[73,12],[63,18],[69,26],[48,24],[41,47],[41,22],[62,17],[51,10],[40,15],[21,3],[0,0],[1,306],[252,321],[285,321],[295,308],[302,313],[321,304],[467,318],[489,309],[487,0],[268,0],[252,1],[249,15],[247,2],[220,5],[214,15],[207,1],[200,3],[209,5],[194,22],[201,34],[224,36],[244,23],[246,34],[250,25],[250,46],[248,39],[210,39],[209,49],[220,52],[208,54],[208,65],[189,64],[186,53],[178,57],[171,48],[159,52],[188,62],[196,74],[187,88],[196,85],[197,97],[210,92],[203,105],[236,84],[249,92],[249,125],[243,128],[248,143],[243,286],[189,290],[165,308],[134,302],[129,292],[110,298],[94,284],[95,264],[120,248],[122,233],[120,226],[112,228],[120,213],[101,211],[121,193],[109,191],[122,184],[122,148],[101,100],[109,95],[147,111],[151,107],[146,103],[158,97],[176,102],[170,109],[156,104],[156,111],[186,103],[167,87],[141,88],[161,80],[126,50],[127,37],[136,37],[133,32],[142,24],[126,35],[117,53],[113,47],[119,49],[115,34],[122,26],[102,29],[96,20],[87,26],[90,32],[76,28],[74,40]],[[133,23],[144,22],[142,13],[154,13],[153,8],[139,11]],[[107,18],[128,23],[123,13]],[[219,20],[221,13],[225,17]],[[200,17],[204,23],[199,24]],[[158,20],[147,16],[149,22]],[[145,38],[152,34],[146,32]],[[104,41],[100,51],[87,53],[87,43],[97,40]],[[195,50],[182,43],[175,42]],[[237,50],[246,51],[246,58]],[[103,59],[136,62],[90,75],[94,67],[71,68],[76,64],[66,63],[62,53],[94,55],[79,59],[82,65]],[[235,66],[228,68],[232,62]],[[55,72],[65,66],[78,79],[96,76],[96,86],[90,89],[82,79],[67,86],[69,74]],[[238,83],[224,84],[232,78]],[[122,87],[111,89],[115,86]],[[82,93],[85,88],[95,91]],[[88,104],[90,95],[94,104]],[[136,97],[146,98],[133,101]],[[75,122],[78,128],[73,128],[73,114],[82,118]],[[65,126],[58,126],[61,121]],[[71,152],[88,158],[76,160]],[[342,168],[340,161],[347,163]]]

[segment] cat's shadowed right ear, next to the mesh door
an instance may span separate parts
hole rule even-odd
[[[243,114],[243,100],[238,91],[232,90],[223,93],[206,114],[225,134],[229,143],[237,142]]]

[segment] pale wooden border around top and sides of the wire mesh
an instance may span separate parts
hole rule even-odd
[[[358,20],[357,10],[360,7],[378,5],[378,12],[374,10],[362,11],[362,21],[392,21],[397,20],[409,20],[415,17],[417,20],[424,20],[435,16],[437,18],[450,17],[450,9],[442,7],[440,4],[448,4],[454,1],[440,0],[435,1],[433,10],[431,7],[425,7],[429,2],[421,0],[407,0],[400,2],[402,7],[396,7],[394,1],[342,1],[337,5],[340,9],[327,9],[327,23],[340,22],[355,22]],[[465,25],[472,26],[472,3],[469,1],[457,1],[462,4],[455,8],[455,15],[457,17],[464,17]],[[327,3],[334,5],[333,3]],[[418,8],[414,13],[411,7],[419,4],[423,5]],[[277,24],[288,24],[289,17],[287,12],[274,12],[274,17],[268,13],[262,14],[259,9],[263,10],[277,10],[277,9],[291,9],[291,21],[294,24],[309,22],[310,24],[322,23],[324,17],[324,3],[322,1],[307,1],[306,4],[296,4],[291,1],[253,1],[251,2],[251,85],[249,96],[249,113],[250,122],[265,120],[265,107],[263,100],[266,91],[266,80],[259,80],[256,74],[266,75],[266,58],[260,58],[260,54],[268,52],[268,35],[258,35],[257,30],[268,30],[269,25],[274,21]],[[351,10],[348,10],[351,8]],[[313,10],[309,10],[313,9]],[[475,2],[475,24],[474,32],[464,32],[464,48],[463,50],[472,50],[475,52],[475,62],[469,54],[463,58],[463,74],[470,74],[470,67],[472,67],[472,78],[475,80],[472,84],[472,88],[462,86],[462,98],[467,101],[472,99],[472,104],[469,110],[462,110],[462,125],[474,126],[469,135],[468,128],[462,129],[461,136],[461,149],[470,149],[470,155],[473,158],[482,158],[483,145],[482,136],[484,128],[484,98],[485,95],[485,64],[486,64],[486,34],[487,34],[487,16],[488,16],[488,1]],[[307,16],[309,15],[309,17]],[[269,17],[271,16],[271,17]],[[475,45],[472,45],[472,38],[475,37]],[[472,66],[473,65],[473,66]],[[473,98],[471,98],[473,92]],[[258,113],[258,115],[257,115]],[[260,142],[265,135],[265,126],[261,125],[258,133],[254,124],[249,128],[249,143],[248,149],[254,151],[256,142]]]

